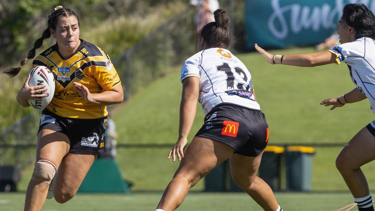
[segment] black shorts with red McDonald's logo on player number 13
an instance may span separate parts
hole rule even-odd
[[[236,154],[255,157],[266,148],[269,130],[261,111],[222,103],[205,116],[195,136],[225,143]]]

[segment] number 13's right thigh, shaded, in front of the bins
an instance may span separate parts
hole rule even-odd
[[[233,154],[229,157],[231,175],[236,183],[251,183],[254,181],[263,152],[264,151],[257,155],[257,157],[248,157],[240,154]]]

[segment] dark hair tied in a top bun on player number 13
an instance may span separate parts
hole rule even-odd
[[[229,28],[229,17],[225,10],[217,9],[214,13],[215,21],[206,24],[199,32],[209,47],[228,49],[233,43],[233,33]]]

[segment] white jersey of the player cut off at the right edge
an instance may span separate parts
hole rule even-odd
[[[369,99],[370,109],[375,113],[375,41],[363,37],[328,51],[336,54],[337,64],[348,65],[353,83]]]

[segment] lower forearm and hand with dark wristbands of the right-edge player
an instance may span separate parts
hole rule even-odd
[[[333,110],[337,107],[343,107],[347,103],[359,102],[359,101],[364,100],[366,98],[367,97],[365,95],[363,95],[363,93],[359,89],[355,88],[355,89],[351,90],[350,92],[339,96],[338,98],[326,99],[323,102],[321,102],[320,104],[324,105],[324,106],[333,105],[330,108],[330,110]]]

